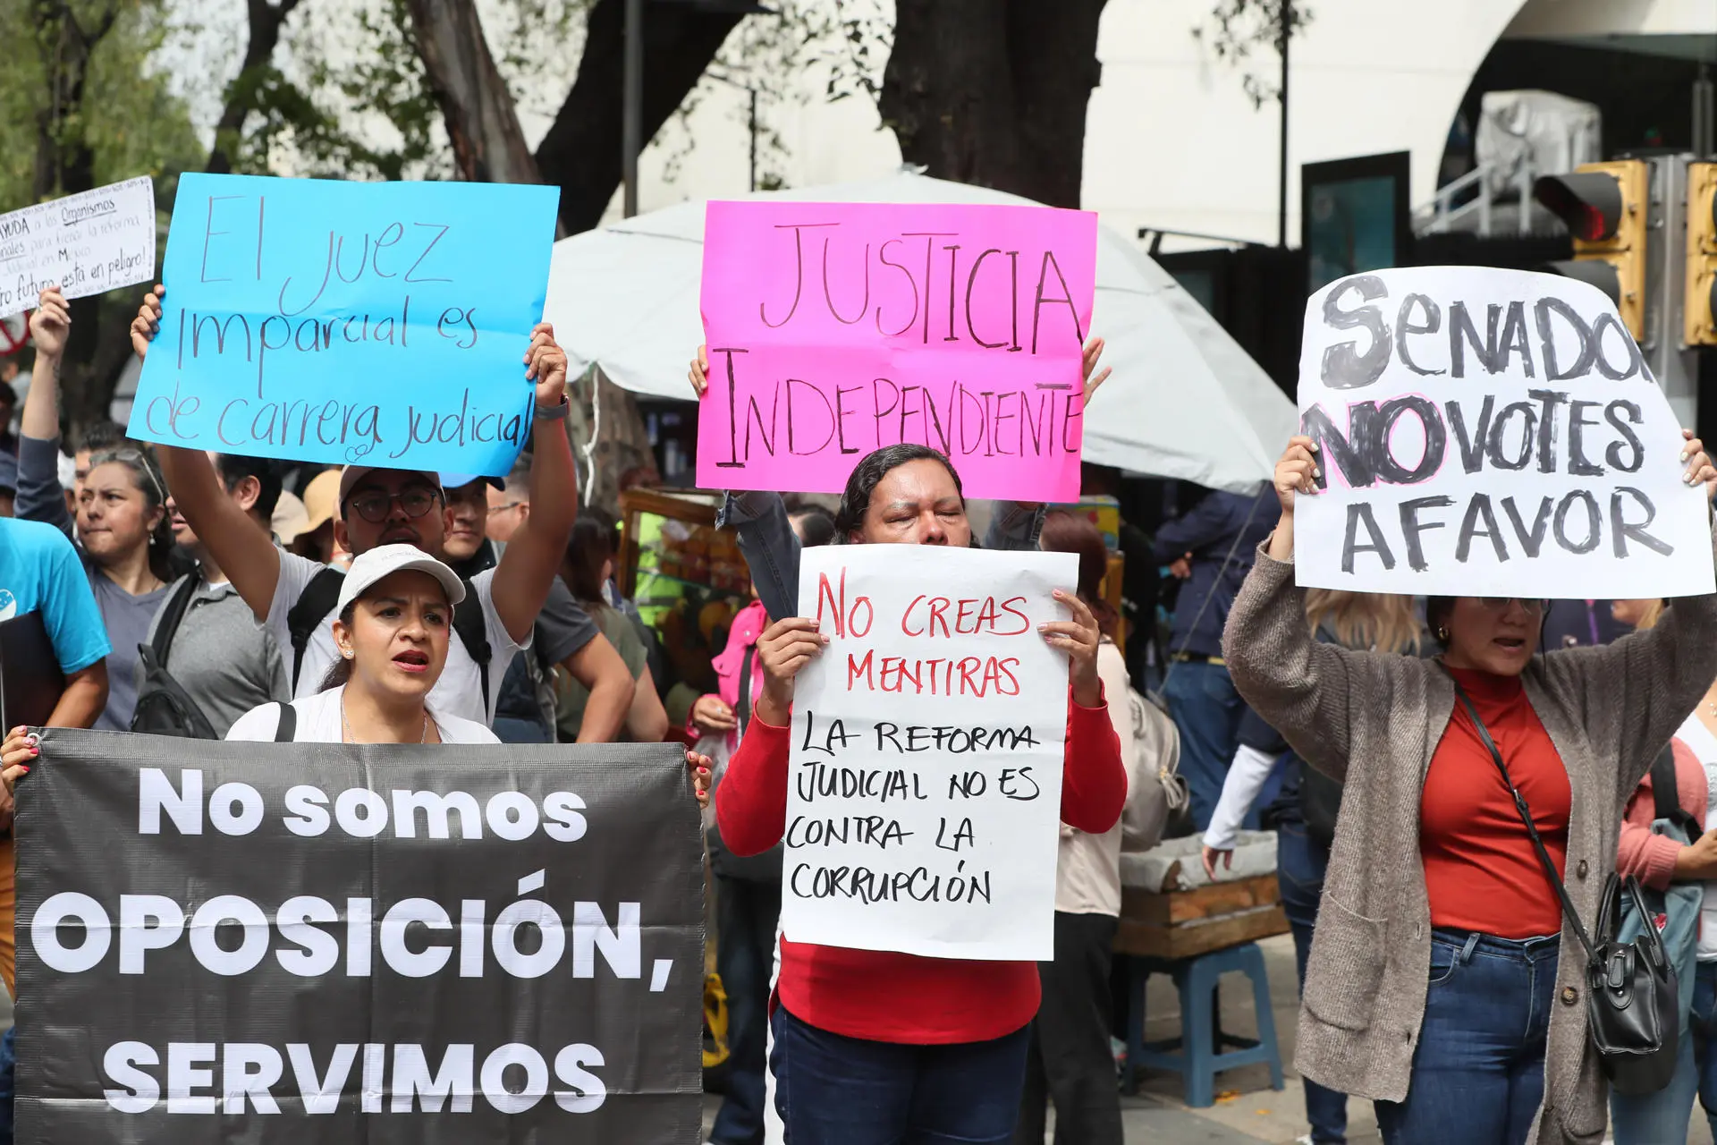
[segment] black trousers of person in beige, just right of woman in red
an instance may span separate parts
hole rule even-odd
[[[1044,1003],[1032,1020],[1015,1145],[1044,1145],[1046,1102],[1056,1145],[1121,1145],[1121,1092],[1109,1051],[1114,915],[1056,912],[1056,960],[1037,963]]]

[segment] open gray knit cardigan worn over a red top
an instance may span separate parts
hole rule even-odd
[[[1403,1100],[1430,966],[1418,803],[1454,685],[1435,661],[1315,642],[1293,565],[1271,560],[1265,546],[1223,640],[1247,702],[1346,785],[1295,1066],[1343,1094]],[[1526,666],[1526,697],[1568,767],[1566,886],[1588,929],[1616,867],[1623,803],[1714,678],[1717,596],[1674,601],[1655,628],[1607,647],[1556,651]],[[1538,1145],[1604,1138],[1607,1087],[1587,1044],[1583,968],[1564,924],[1544,1107],[1528,1138]]]

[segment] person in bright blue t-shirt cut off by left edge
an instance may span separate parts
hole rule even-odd
[[[53,525],[0,517],[0,621],[41,613],[53,657],[65,675],[53,712],[55,728],[88,728],[106,707],[106,656],[112,645],[84,563]],[[9,664],[9,668],[12,668]],[[24,664],[39,669],[41,664]],[[10,762],[10,760],[7,760]],[[12,978],[12,918],[17,906],[12,865],[12,783],[27,771],[9,767],[0,786],[0,978],[17,996]],[[12,1030],[0,1039],[0,1140],[12,1140]]]

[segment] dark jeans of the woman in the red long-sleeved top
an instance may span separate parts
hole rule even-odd
[[[881,992],[877,1004],[886,1006]],[[1030,1027],[992,1042],[903,1045],[774,1009],[774,1104],[793,1145],[1004,1145]]]

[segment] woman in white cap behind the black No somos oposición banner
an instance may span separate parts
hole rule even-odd
[[[422,549],[410,544],[369,549],[352,561],[340,584],[337,620],[330,625],[340,659],[316,682],[321,690],[290,706],[251,709],[227,738],[500,743],[481,723],[438,711],[429,700],[446,668],[453,608],[462,599],[465,585],[458,575]]]

